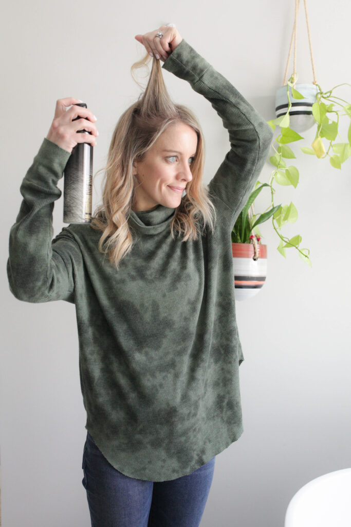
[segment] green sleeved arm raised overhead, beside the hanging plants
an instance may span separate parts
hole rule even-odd
[[[163,66],[212,104],[229,132],[230,150],[209,183],[226,206],[232,228],[267,158],[273,131],[246,99],[184,38]]]

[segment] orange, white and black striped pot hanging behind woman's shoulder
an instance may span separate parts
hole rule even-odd
[[[262,243],[232,243],[235,300],[257,295],[267,276],[267,246]]]

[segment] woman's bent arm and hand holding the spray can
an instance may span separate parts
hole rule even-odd
[[[74,302],[74,261],[79,261],[81,253],[66,228],[52,238],[54,201],[62,194],[57,182],[63,176],[72,148],[78,141],[95,142],[95,135],[76,133],[77,127],[82,128],[79,120],[72,122],[77,106],[64,110],[65,105],[77,101],[72,97],[57,101],[48,136],[21,184],[23,201],[10,231],[7,260],[9,287],[19,300]],[[79,113],[82,111],[88,114],[88,110],[80,108]],[[95,129],[86,120],[84,126]]]

